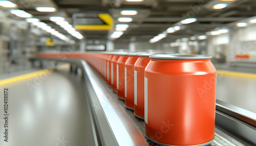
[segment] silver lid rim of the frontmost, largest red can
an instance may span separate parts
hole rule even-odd
[[[197,59],[211,59],[210,55],[191,55],[191,54],[174,54],[174,55],[151,55],[151,59],[165,59],[165,60],[197,60]]]

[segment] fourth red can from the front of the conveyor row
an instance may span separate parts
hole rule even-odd
[[[124,64],[129,58],[127,54],[121,54],[117,60],[117,95],[120,100],[124,100]]]

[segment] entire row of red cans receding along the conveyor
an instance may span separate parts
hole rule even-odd
[[[145,118],[160,145],[207,145],[215,136],[216,69],[207,55],[90,53],[82,57]]]

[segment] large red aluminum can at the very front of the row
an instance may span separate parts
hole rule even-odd
[[[145,134],[164,145],[215,136],[216,69],[208,55],[155,55],[145,68]]]

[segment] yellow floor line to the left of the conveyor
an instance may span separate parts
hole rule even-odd
[[[57,67],[57,69],[61,70],[61,69],[65,69],[65,68],[68,68],[68,67],[70,67],[70,64],[64,64],[64,65],[60,65],[59,67]],[[31,72],[29,74],[20,75],[20,76],[17,76],[17,77],[12,77],[12,78],[8,78],[8,79],[0,80],[0,86],[5,85],[5,84],[10,84],[10,83],[13,83],[13,82],[17,82],[17,81],[20,81],[20,80],[25,80],[25,79],[28,79],[28,78],[32,78],[32,77],[35,77],[35,76],[42,75],[42,74],[49,74],[49,72],[52,72],[52,70],[51,69],[44,69],[44,70]]]

